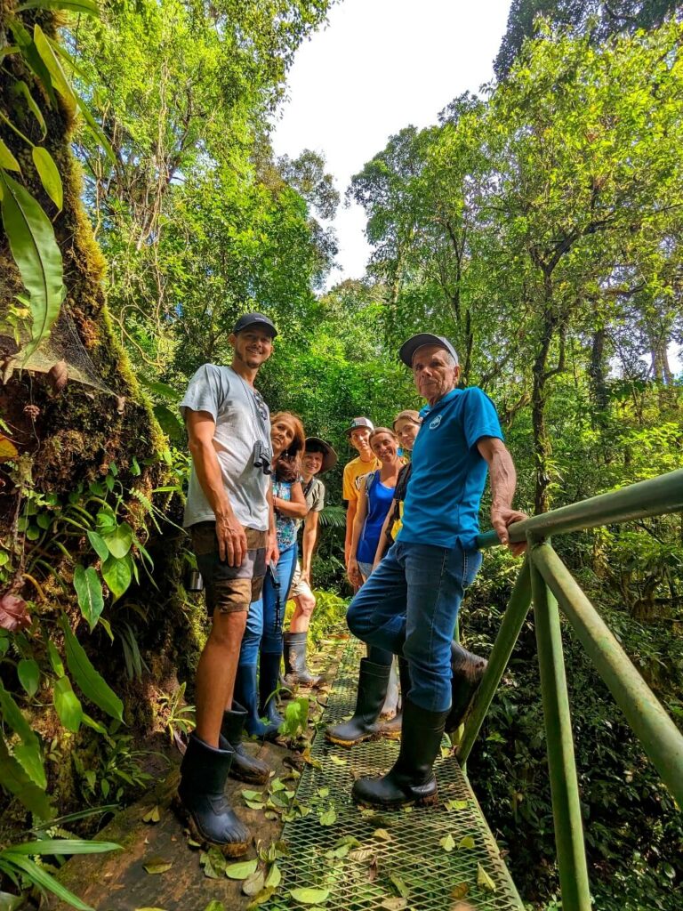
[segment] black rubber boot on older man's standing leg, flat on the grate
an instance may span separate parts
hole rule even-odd
[[[433,764],[439,755],[447,715],[447,711],[426,711],[406,699],[399,758],[382,778],[359,778],[354,782],[353,800],[386,810],[435,804],[439,792]]]

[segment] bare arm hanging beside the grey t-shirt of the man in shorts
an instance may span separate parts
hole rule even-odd
[[[186,415],[192,462],[199,485],[216,517],[219,557],[227,560],[229,566],[239,567],[247,556],[247,536],[232,511],[223,486],[219,459],[213,445],[216,422],[207,411],[188,409]]]

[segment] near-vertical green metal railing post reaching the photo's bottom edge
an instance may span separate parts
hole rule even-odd
[[[529,548],[562,906],[565,911],[591,911],[559,609],[555,596],[535,567],[531,541]]]

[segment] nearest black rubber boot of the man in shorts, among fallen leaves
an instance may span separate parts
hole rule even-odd
[[[189,735],[175,805],[195,841],[217,847],[229,857],[240,857],[247,853],[251,835],[223,793],[235,754],[224,737],[219,743],[216,749],[199,740],[195,732]]]

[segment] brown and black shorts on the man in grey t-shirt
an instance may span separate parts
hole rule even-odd
[[[245,528],[247,556],[240,567],[231,567],[219,558],[219,541],[215,522],[198,522],[189,527],[197,568],[204,580],[209,617],[214,610],[230,613],[249,610],[251,601],[260,598],[266,574],[265,531]]]

